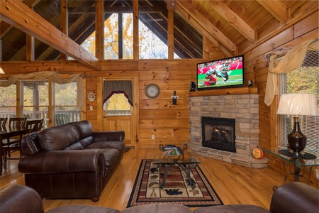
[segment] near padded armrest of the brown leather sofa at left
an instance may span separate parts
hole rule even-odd
[[[26,155],[18,163],[18,170],[25,174],[54,174],[96,172],[105,169],[104,155],[101,151],[43,151]]]

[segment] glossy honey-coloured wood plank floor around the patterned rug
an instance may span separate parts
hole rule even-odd
[[[141,160],[153,159],[156,155],[160,155],[158,148],[130,149],[124,153],[121,165],[104,188],[99,202],[92,202],[89,199],[43,200],[45,211],[67,204],[90,204],[125,209]],[[255,204],[269,209],[274,193],[272,187],[284,183],[284,174],[271,168],[252,169],[200,155],[196,158],[201,161],[201,170],[224,204]],[[7,168],[0,176],[0,188],[13,184],[24,185],[23,174],[18,172],[17,163],[18,160],[9,160]]]

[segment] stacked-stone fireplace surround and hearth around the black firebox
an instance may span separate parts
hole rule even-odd
[[[267,160],[252,158],[252,150],[259,144],[259,95],[229,94],[190,97],[190,151],[208,158],[223,160],[251,168],[267,167]],[[201,117],[235,119],[236,153],[202,146]]]

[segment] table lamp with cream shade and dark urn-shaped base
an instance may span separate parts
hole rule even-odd
[[[299,125],[301,115],[318,116],[318,104],[315,94],[282,94],[277,114],[293,117],[293,131],[288,135],[288,143],[295,155],[306,148],[307,137],[303,135]]]

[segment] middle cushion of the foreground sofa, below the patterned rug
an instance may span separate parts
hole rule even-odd
[[[122,213],[192,213],[189,207],[180,204],[146,204],[124,209]]]

